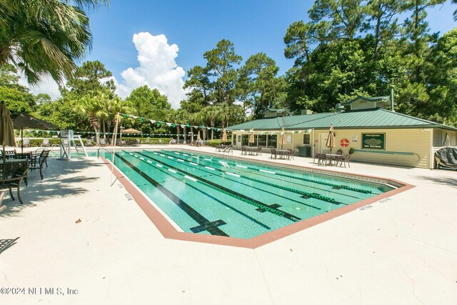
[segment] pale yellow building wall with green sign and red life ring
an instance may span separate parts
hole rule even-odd
[[[320,143],[328,134],[328,130],[315,130],[313,151],[319,152],[318,148],[325,147]],[[385,149],[362,149],[362,134],[386,134]],[[353,161],[362,161],[376,164],[390,164],[400,166],[431,168],[432,129],[336,129],[336,147],[333,151],[341,149],[347,154],[353,148],[355,152],[351,156]],[[345,148],[340,146],[342,139],[348,139],[349,145]],[[402,154],[403,153],[403,154]]]

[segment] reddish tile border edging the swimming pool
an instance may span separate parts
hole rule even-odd
[[[104,163],[106,166],[109,167],[111,170],[111,162],[108,161],[105,158],[103,159]],[[248,159],[246,159],[248,161]],[[274,163],[272,165],[281,165],[278,163]],[[304,166],[296,166],[296,167],[301,167],[303,169],[308,169],[307,167]],[[334,173],[338,173],[338,171],[332,171]],[[283,237],[289,236],[291,234],[294,234],[296,232],[302,231],[304,229],[308,229],[311,226],[316,226],[316,224],[321,224],[324,221],[328,221],[330,219],[334,219],[338,216],[341,216],[343,214],[347,214],[350,211],[354,211],[356,209],[360,209],[362,206],[367,206],[368,204],[372,204],[373,202],[379,201],[381,199],[399,194],[403,191],[407,191],[408,189],[412,189],[413,185],[411,184],[406,184],[401,181],[397,181],[394,179],[383,179],[383,178],[378,178],[375,176],[366,176],[366,175],[353,175],[353,176],[361,176],[361,177],[366,177],[370,179],[381,179],[384,181],[392,181],[396,184],[401,184],[403,186],[399,187],[398,189],[393,189],[392,191],[388,191],[383,194],[379,194],[377,196],[373,196],[371,198],[358,201],[354,204],[348,205],[348,206],[343,206],[339,209],[329,211],[326,214],[321,214],[318,216],[314,216],[310,219],[305,219],[302,221],[297,222],[296,224],[291,224],[288,226],[284,226],[283,228],[276,229],[274,231],[268,232],[266,234],[262,234],[259,236],[252,237],[251,239],[237,239],[235,237],[226,237],[226,236],[214,236],[214,235],[204,235],[204,234],[194,234],[194,233],[188,233],[188,232],[181,232],[177,231],[174,226],[172,226],[169,221],[162,215],[157,209],[152,206],[149,203],[149,200],[146,199],[141,192],[136,189],[136,187],[131,184],[131,182],[124,177],[123,174],[121,174],[120,171],[114,167],[113,169],[114,176],[121,182],[121,184],[125,187],[126,191],[129,192],[129,194],[133,197],[135,200],[136,204],[139,205],[139,207],[144,211],[144,214],[151,219],[151,221],[154,223],[157,229],[161,232],[161,234],[166,238],[166,239],[177,239],[181,241],[196,241],[196,242],[201,242],[201,243],[207,243],[207,244],[218,244],[218,245],[224,245],[224,246],[238,246],[238,247],[243,247],[243,248],[248,248],[248,249],[256,249],[259,246],[263,246],[266,244],[271,243],[272,241],[277,241],[278,239],[282,239]],[[346,174],[346,173],[341,173],[341,174]]]

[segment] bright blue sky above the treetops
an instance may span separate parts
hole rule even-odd
[[[123,97],[141,84],[157,86],[167,95],[178,90],[186,71],[205,65],[204,52],[214,49],[221,39],[232,41],[243,61],[265,52],[276,61],[282,75],[293,65],[293,60],[283,56],[283,36],[294,21],[308,20],[312,4],[306,0],[111,0],[109,8],[89,13],[93,46],[86,60],[99,60],[113,72],[118,94]],[[456,8],[446,4],[430,11],[431,29],[441,33],[452,29]],[[134,44],[134,34],[141,32],[149,35],[137,36]],[[162,58],[166,64],[151,63]],[[121,75],[126,70],[128,73]],[[146,70],[158,72],[149,74]],[[182,92],[169,99],[180,96]],[[177,103],[172,102],[175,108]]]

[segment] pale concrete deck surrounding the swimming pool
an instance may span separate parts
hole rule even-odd
[[[281,163],[323,169],[298,156]],[[455,304],[456,171],[358,163],[324,169],[416,187],[246,249],[165,239],[124,186],[111,185],[101,159],[51,159],[44,180],[29,173],[24,205],[4,199],[0,302]]]

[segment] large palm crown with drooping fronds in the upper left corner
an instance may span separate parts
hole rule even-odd
[[[84,9],[109,0],[0,0],[0,64],[24,71],[30,84],[51,76],[61,84],[71,79],[91,47]]]

